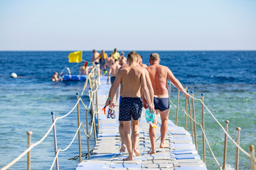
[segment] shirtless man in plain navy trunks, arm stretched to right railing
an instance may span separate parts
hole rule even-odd
[[[164,142],[166,133],[168,130],[168,118],[169,118],[169,93],[167,80],[169,79],[178,90],[186,98],[191,95],[186,94],[185,89],[181,85],[180,81],[174,77],[171,70],[168,67],[159,64],[159,54],[152,53],[149,57],[150,66],[146,69],[149,71],[149,77],[154,89],[154,109],[156,110],[156,118],[154,124],[157,123],[158,113],[161,116],[161,144],[160,147],[169,147],[169,144]],[[149,125],[149,137],[151,142],[150,154],[156,153],[156,130]]]

